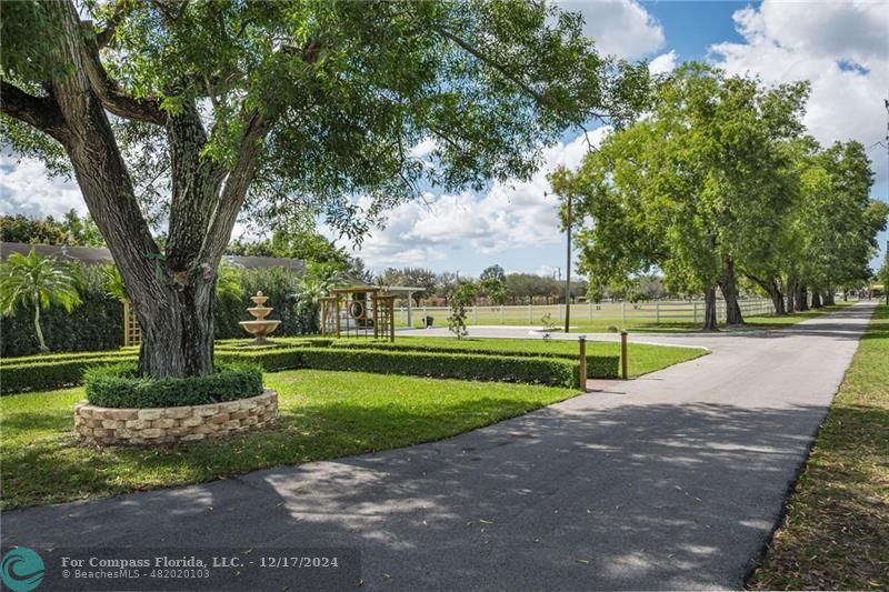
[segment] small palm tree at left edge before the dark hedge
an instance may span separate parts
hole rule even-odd
[[[28,257],[11,253],[0,265],[0,312],[10,315],[20,307],[34,310],[34,332],[41,352],[48,352],[40,329],[40,310],[60,304],[68,312],[80,304],[77,280],[67,263],[39,257],[31,247]]]

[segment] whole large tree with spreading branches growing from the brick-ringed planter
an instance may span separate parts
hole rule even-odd
[[[528,178],[567,127],[645,100],[645,64],[601,58],[543,0],[83,7],[2,3],[2,138],[73,171],[143,375],[212,371],[216,269],[244,207],[354,234],[421,182]]]

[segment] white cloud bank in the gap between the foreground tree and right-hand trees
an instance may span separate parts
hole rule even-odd
[[[598,146],[608,131],[590,132],[589,141]],[[559,165],[577,168],[587,150],[587,139],[579,136],[547,149],[543,165],[530,181],[498,182],[481,197],[428,194],[424,201],[404,203],[387,215],[386,228],[372,232],[358,254],[371,268],[381,269],[559,244],[563,235],[558,199],[547,174]]]

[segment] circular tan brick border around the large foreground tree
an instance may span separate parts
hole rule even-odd
[[[102,446],[191,442],[247,432],[269,425],[278,417],[278,393],[224,403],[148,409],[74,405],[74,435]]]

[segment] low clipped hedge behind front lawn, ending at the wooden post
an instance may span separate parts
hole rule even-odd
[[[358,349],[350,349],[347,352],[336,348],[308,348],[300,351],[299,355],[302,358],[303,368],[313,370],[352,370],[573,388],[580,385],[580,364],[558,358]]]

